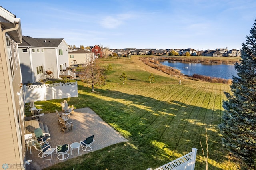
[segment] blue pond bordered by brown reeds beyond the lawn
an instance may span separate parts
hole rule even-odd
[[[223,79],[232,79],[232,75],[236,76],[234,64],[216,64],[216,63],[189,63],[181,61],[163,61],[162,65],[170,66],[178,69],[184,75],[200,74],[210,77],[218,77]]]

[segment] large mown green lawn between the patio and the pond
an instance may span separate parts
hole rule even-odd
[[[218,124],[222,115],[224,84],[179,80],[131,59],[100,59],[108,71],[106,85],[90,87],[78,81],[78,97],[68,103],[76,108],[90,107],[129,142],[109,146],[69,159],[47,169],[146,170],[157,168],[197,148],[196,170],[205,169],[200,141],[206,151],[208,128],[208,166],[210,170],[239,169],[237,162],[222,148]],[[125,72],[125,84],[119,79]],[[148,81],[152,73],[154,83]],[[44,113],[60,110],[63,99],[41,101]],[[97,142],[97,141],[95,141]],[[206,152],[205,152],[206,154]],[[230,161],[229,161],[230,160]]]

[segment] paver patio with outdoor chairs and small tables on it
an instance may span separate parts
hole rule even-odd
[[[58,117],[56,113],[48,113],[40,117],[40,122],[43,122],[48,126],[51,139],[49,140],[50,146],[56,148],[57,145],[72,144],[73,142],[80,142],[85,140],[87,137],[94,135],[93,148],[89,152],[99,150],[110,146],[112,144],[117,144],[120,142],[128,142],[124,137],[122,137],[114,128],[110,127],[106,122],[104,122],[92,109],[82,108],[75,109],[73,113],[70,114],[70,121],[73,121],[73,130],[68,133],[60,131],[60,125],[57,123]],[[68,159],[81,156],[89,152],[84,152],[80,147],[80,155],[78,155],[78,149],[72,150],[72,155],[70,154]],[[30,165],[26,165],[27,170],[41,170],[43,168],[52,166],[59,162],[64,162],[65,160],[58,160],[57,154],[52,154],[52,162],[50,160],[44,160],[38,157],[39,151],[34,147],[30,150],[26,150],[26,160],[32,160]],[[71,149],[70,149],[71,150]],[[54,152],[55,153],[55,152]],[[47,158],[50,158],[48,156]],[[68,160],[66,159],[66,160]]]

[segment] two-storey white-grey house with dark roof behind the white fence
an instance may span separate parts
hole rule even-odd
[[[45,79],[45,71],[60,78],[60,71],[68,65],[68,44],[63,38],[32,38],[22,36],[18,45],[23,83],[35,83]]]

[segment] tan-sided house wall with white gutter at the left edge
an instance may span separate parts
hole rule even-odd
[[[20,18],[0,7],[0,164],[3,169],[24,169],[24,102],[18,43]],[[10,164],[12,166],[10,166]]]

